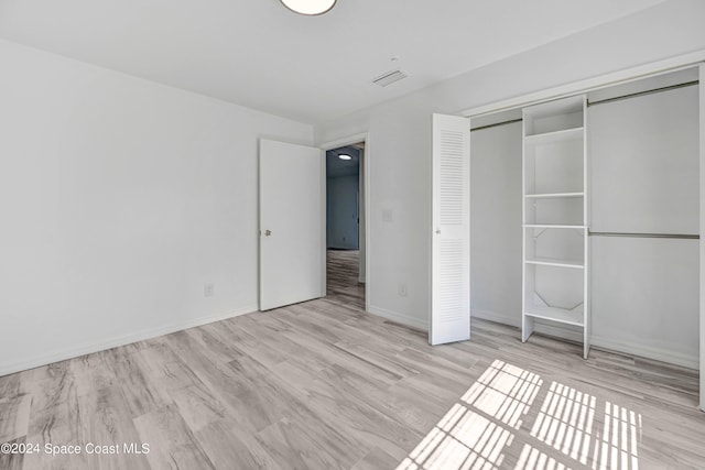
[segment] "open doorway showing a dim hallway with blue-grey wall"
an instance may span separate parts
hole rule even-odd
[[[326,151],[326,296],[365,308],[365,142]]]

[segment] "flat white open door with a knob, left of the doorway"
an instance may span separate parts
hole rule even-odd
[[[323,155],[260,141],[260,309],[325,295]]]

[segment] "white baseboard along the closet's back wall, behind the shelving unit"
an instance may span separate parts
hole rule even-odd
[[[473,317],[485,320],[496,321],[498,324],[509,325],[521,328],[521,319],[516,316],[498,314],[488,310],[473,310]],[[535,332],[553,336],[571,341],[583,342],[583,335],[579,331],[561,328],[557,326],[541,324],[536,321]],[[648,345],[640,345],[632,341],[618,341],[615,339],[603,338],[593,335],[590,346],[597,349],[606,349],[609,351],[621,352],[626,354],[639,356],[641,358],[653,359],[655,361],[668,362],[674,365],[681,365],[688,369],[697,369],[699,367],[699,358],[697,356],[684,354],[671,351],[664,348],[654,348]]]

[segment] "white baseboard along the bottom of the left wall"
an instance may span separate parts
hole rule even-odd
[[[24,359],[19,362],[0,363],[0,376],[8,375],[14,372],[26,371],[29,369],[39,368],[39,367],[51,364],[58,361],[65,361],[66,359],[73,359],[84,354],[90,354],[93,352],[105,351],[106,349],[116,348],[118,346],[124,346],[124,345],[130,345],[137,341],[143,341],[150,338],[156,338],[159,336],[182,331],[188,328],[199,327],[202,325],[225,320],[227,318],[250,314],[257,310],[258,310],[257,305],[242,307],[235,311],[229,311],[227,314],[194,318],[185,321],[177,321],[170,325],[164,325],[156,328],[144,329],[144,330],[135,331],[128,335],[106,338],[99,341],[89,341],[80,346],[74,346],[70,348],[59,349],[57,351],[37,354],[33,358]]]

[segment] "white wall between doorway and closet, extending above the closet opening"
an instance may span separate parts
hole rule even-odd
[[[432,112],[481,105],[705,48],[705,2],[654,8],[316,127],[316,142],[369,132],[370,310],[419,327],[430,308]],[[475,45],[481,47],[481,44]],[[468,46],[471,54],[473,45]],[[413,70],[409,70],[413,73]],[[392,210],[392,220],[382,212]],[[405,282],[409,295],[398,294]]]

